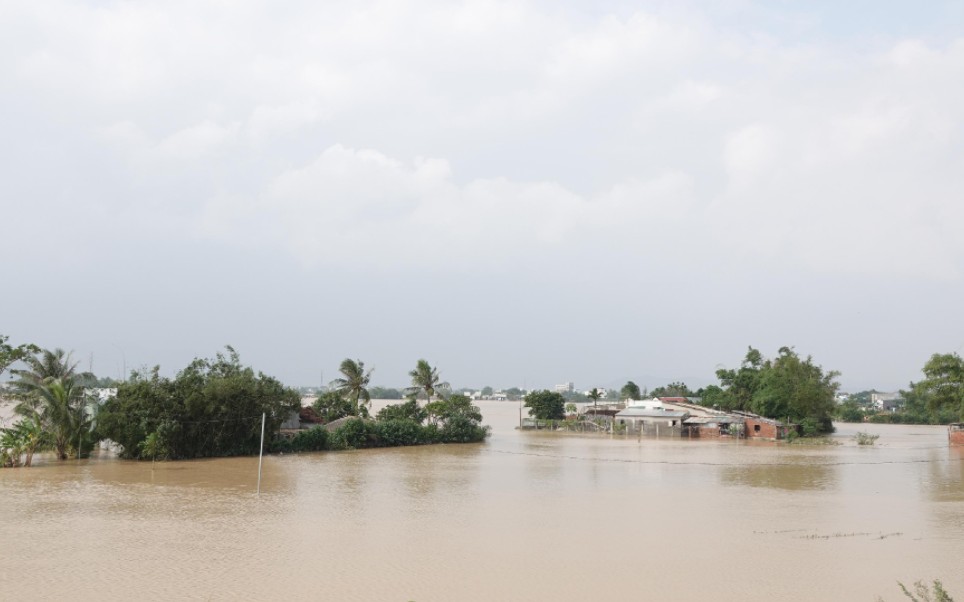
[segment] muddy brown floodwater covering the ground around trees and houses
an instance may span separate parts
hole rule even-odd
[[[964,597],[964,448],[519,432],[481,445],[0,470],[3,600]],[[853,434],[880,435],[858,447]]]

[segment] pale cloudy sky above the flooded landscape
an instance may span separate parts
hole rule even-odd
[[[0,5],[0,333],[102,376],[964,352],[958,2]]]

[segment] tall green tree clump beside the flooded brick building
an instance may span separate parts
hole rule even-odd
[[[703,390],[705,405],[745,410],[801,424],[804,434],[833,431],[838,372],[824,372],[812,358],[801,358],[790,347],[766,359],[752,347],[737,370],[716,372],[720,387]]]

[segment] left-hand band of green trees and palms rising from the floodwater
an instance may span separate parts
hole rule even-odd
[[[315,400],[310,419],[325,423],[351,417],[329,433],[282,437],[280,427],[301,408],[299,393],[277,379],[241,364],[231,347],[213,359],[195,359],[173,378],[159,367],[133,371],[106,400],[93,396],[105,384],[80,372],[62,349],[12,346],[0,335],[0,375],[14,380],[16,422],[0,429],[0,466],[30,466],[36,453],[53,451],[61,460],[83,457],[97,442],[120,445],[131,459],[187,459],[258,453],[262,415],[268,451],[348,449],[389,445],[481,441],[488,429],[482,415],[461,395],[450,394],[438,370],[419,360],[410,374],[409,401],[389,406],[373,420],[368,409],[371,371],[346,359],[330,391]],[[424,407],[417,398],[424,396]],[[324,430],[321,433],[318,429]],[[299,447],[300,446],[300,447]]]

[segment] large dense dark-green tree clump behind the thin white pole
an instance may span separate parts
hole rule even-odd
[[[296,391],[241,365],[230,347],[196,359],[173,379],[135,373],[98,413],[97,432],[137,459],[256,454],[261,415],[268,433],[300,407]]]

